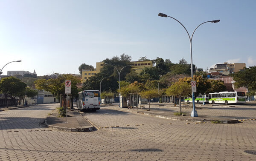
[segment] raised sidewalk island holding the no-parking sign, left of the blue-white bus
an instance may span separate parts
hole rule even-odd
[[[68,117],[58,117],[58,109],[46,118],[45,124],[52,129],[58,129],[70,132],[93,131],[94,126],[87,121],[76,109],[67,110]],[[66,123],[67,119],[67,123]]]

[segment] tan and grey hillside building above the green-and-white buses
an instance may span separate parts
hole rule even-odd
[[[245,68],[245,63],[222,63],[216,64],[214,68],[209,69],[208,73],[219,72],[222,75],[229,75],[231,73],[243,71]]]

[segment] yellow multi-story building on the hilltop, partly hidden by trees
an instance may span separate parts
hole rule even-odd
[[[134,69],[135,72],[140,73],[144,67],[152,67],[152,61],[131,61],[131,68]],[[104,62],[96,62],[96,69],[89,68],[89,69],[83,69],[82,70],[82,83],[92,77],[93,75],[96,75],[100,72],[100,69],[102,69],[104,66]]]

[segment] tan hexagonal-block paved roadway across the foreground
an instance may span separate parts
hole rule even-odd
[[[102,107],[83,115],[106,128],[48,131],[38,122],[52,109],[0,112],[0,160],[256,160],[243,152],[256,150],[256,121],[186,124]]]

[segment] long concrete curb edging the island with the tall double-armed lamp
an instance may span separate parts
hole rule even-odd
[[[138,114],[142,114],[142,115],[149,115],[149,116],[153,116],[153,117],[157,117],[157,118],[165,118],[165,119],[170,119],[170,120],[179,120],[179,121],[191,121],[191,122],[205,122],[205,123],[218,123],[218,124],[236,124],[239,121],[237,119],[230,119],[230,120],[216,120],[216,119],[203,119],[203,118],[180,118],[180,117],[170,117],[170,116],[163,116],[163,115],[155,115],[155,114],[151,114],[148,112],[140,112],[140,111],[130,111],[130,110],[126,110],[126,109],[117,109],[120,111],[126,111],[126,112],[132,112],[132,113],[138,113]]]

